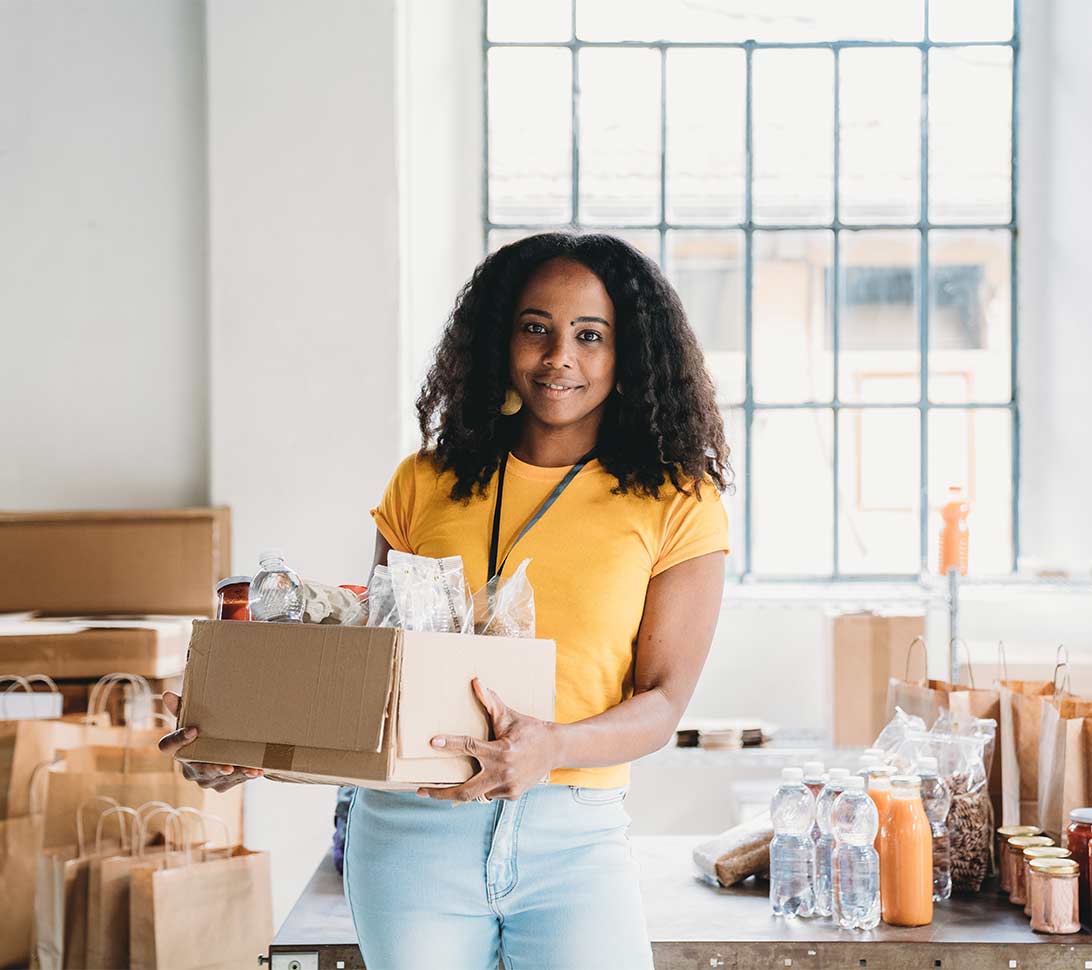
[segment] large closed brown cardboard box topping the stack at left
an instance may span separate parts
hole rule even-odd
[[[0,512],[0,613],[213,616],[230,536],[226,508]]]

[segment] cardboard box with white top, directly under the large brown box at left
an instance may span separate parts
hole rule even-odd
[[[157,616],[3,624],[0,674],[45,674],[59,681],[97,679],[124,671],[150,678],[171,677],[186,666],[192,623],[188,616]]]

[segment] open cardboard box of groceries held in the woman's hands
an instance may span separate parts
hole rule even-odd
[[[458,784],[472,758],[436,734],[487,740],[471,679],[554,719],[553,640],[312,624],[193,624],[180,725],[189,761],[262,768],[280,781],[412,789]]]

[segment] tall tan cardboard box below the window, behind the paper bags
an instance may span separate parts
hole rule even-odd
[[[836,747],[868,747],[890,720],[888,682],[906,675],[906,652],[925,636],[925,616],[853,613],[831,620],[833,690],[831,737]],[[910,676],[924,678],[925,651]]]

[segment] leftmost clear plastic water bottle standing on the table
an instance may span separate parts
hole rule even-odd
[[[781,772],[781,788],[770,802],[770,907],[775,916],[815,913],[816,847],[811,841],[816,800],[799,768]]]

